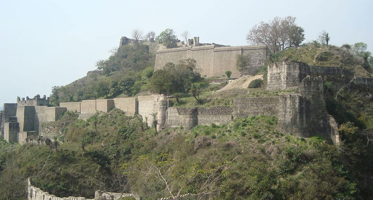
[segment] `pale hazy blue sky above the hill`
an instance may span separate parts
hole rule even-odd
[[[237,46],[255,24],[292,16],[305,42],[325,30],[332,45],[373,52],[372,9],[372,0],[0,0],[0,107],[84,77],[133,29]]]

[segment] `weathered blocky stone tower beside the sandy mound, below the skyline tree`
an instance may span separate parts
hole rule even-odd
[[[267,90],[284,90],[298,86],[310,73],[310,67],[303,62],[279,62],[268,65]]]

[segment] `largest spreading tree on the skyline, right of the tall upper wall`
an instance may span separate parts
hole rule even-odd
[[[269,22],[254,25],[247,33],[249,44],[267,45],[274,53],[291,47],[299,47],[304,40],[303,28],[295,24],[295,17],[275,17]]]

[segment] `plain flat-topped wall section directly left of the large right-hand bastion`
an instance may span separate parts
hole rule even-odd
[[[279,103],[279,97],[235,98],[233,99],[233,117],[277,116]]]

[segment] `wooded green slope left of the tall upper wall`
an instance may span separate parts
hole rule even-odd
[[[149,46],[124,45],[112,51],[107,60],[97,61],[97,70],[65,86],[54,86],[50,104],[136,95],[145,87],[154,70]]]

